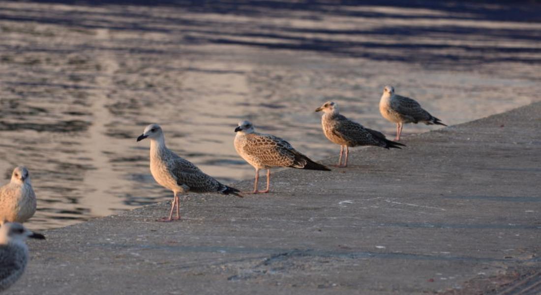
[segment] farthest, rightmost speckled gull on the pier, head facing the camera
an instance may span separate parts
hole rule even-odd
[[[394,87],[388,85],[383,89],[383,94],[379,101],[379,112],[385,119],[397,123],[397,137],[394,140],[400,140],[400,133],[402,133],[404,123],[417,124],[418,122],[422,122],[427,125],[437,124],[447,126],[440,119],[421,108],[421,105],[417,101],[394,94]]]

